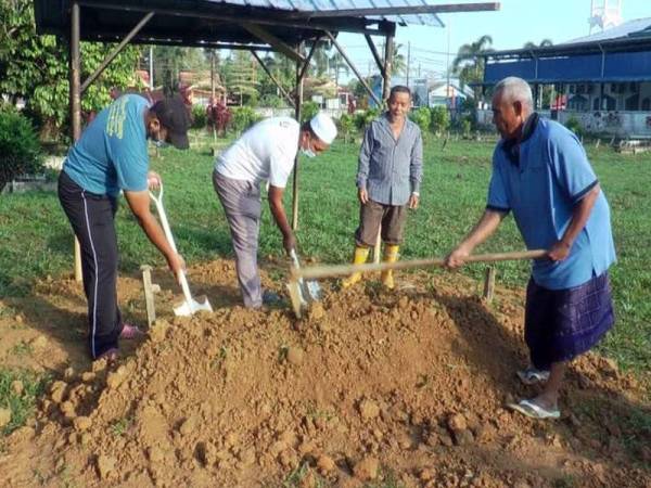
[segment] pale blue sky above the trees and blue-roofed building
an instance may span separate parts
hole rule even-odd
[[[442,3],[452,3],[452,0]],[[496,50],[518,49],[527,41],[539,43],[542,39],[561,43],[587,36],[589,15],[590,0],[501,0],[501,10],[496,12],[442,14],[444,28],[398,26],[395,41],[401,44],[399,52],[406,59],[410,46],[411,76],[419,76],[420,69],[421,76],[443,77],[448,63],[448,46],[451,63],[460,46],[473,42],[484,34],[493,38]],[[651,0],[622,0],[623,22],[642,17],[651,17]],[[363,36],[342,34],[339,40],[363,75],[369,70],[376,73]],[[375,43],[380,46],[381,39],[376,38]]]

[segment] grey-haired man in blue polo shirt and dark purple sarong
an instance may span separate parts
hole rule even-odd
[[[523,383],[545,386],[537,397],[509,407],[535,419],[558,419],[567,362],[592,348],[614,323],[610,208],[576,136],[534,112],[526,81],[501,80],[493,114],[501,140],[486,210],[446,262],[462,266],[509,211],[527,248],[549,249],[533,264],[524,320],[531,365],[518,372]]]

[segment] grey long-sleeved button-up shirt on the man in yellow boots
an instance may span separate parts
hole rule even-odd
[[[357,188],[366,188],[369,198],[384,205],[406,205],[418,193],[423,178],[423,140],[420,128],[405,120],[395,140],[388,114],[367,128],[357,169]]]

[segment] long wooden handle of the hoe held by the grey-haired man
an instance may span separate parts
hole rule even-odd
[[[547,251],[535,249],[535,251],[519,251],[515,253],[494,253],[494,254],[476,254],[469,256],[465,262],[495,262],[495,261],[508,261],[515,259],[539,259],[547,256]],[[291,269],[292,280],[304,279],[318,279],[318,278],[333,278],[344,277],[355,272],[371,272],[371,271],[385,271],[388,269],[409,269],[409,268],[426,268],[430,266],[444,266],[445,259],[443,258],[431,258],[431,259],[413,259],[410,261],[398,261],[398,262],[380,262],[378,265],[336,265],[336,266],[312,266],[309,268]]]

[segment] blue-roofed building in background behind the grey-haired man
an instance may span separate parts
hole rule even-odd
[[[527,80],[536,108],[588,132],[651,138],[651,17],[561,44],[486,53],[483,88],[507,76]],[[478,112],[488,123],[489,111]]]

